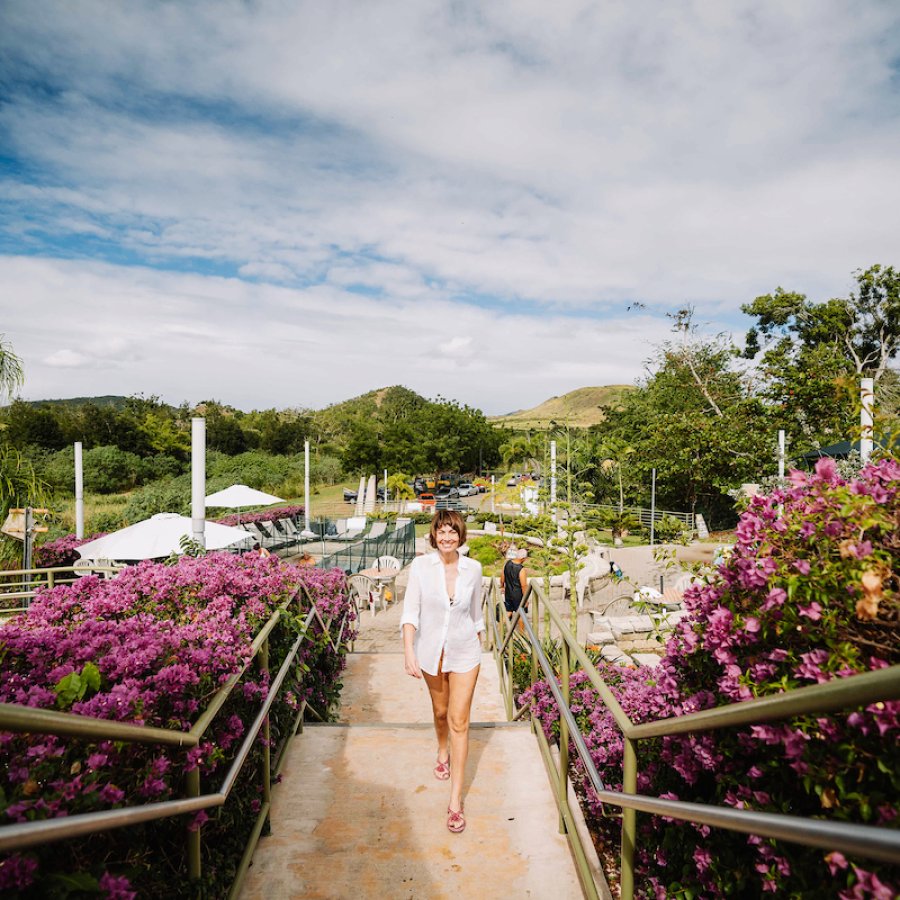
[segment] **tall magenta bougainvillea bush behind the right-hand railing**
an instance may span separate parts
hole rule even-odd
[[[831,460],[755,497],[731,557],[685,596],[691,615],[653,670],[604,668],[635,722],[683,715],[900,663],[900,464],[845,481]],[[581,674],[573,703],[601,777],[622,784],[622,740]],[[547,686],[530,694],[558,735]],[[641,742],[638,790],[716,805],[900,827],[900,702]],[[577,771],[577,766],[576,766]],[[576,776],[577,777],[577,776]],[[598,829],[618,841],[584,785]],[[900,893],[896,866],[639,816],[646,897],[873,897]]]

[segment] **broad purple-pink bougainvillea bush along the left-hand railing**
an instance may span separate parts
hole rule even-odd
[[[303,587],[326,619],[350,612],[344,576],[274,557],[210,554],[174,565],[142,563],[112,580],[93,576],[44,591],[26,615],[0,631],[0,702],[63,710],[187,731],[219,688],[251,656],[254,635]],[[277,671],[308,613],[290,603],[271,633]],[[353,636],[345,633],[344,640]],[[340,687],[342,653],[320,627],[301,645],[297,665],[270,713],[270,741],[289,733],[301,701],[327,710]],[[201,792],[218,790],[269,685],[254,661],[199,746],[86,741],[0,733],[0,808],[27,822],[184,796],[185,770],[199,767]],[[260,808],[256,773],[262,737],[228,802],[201,812],[203,882],[227,892]],[[185,817],[160,820],[0,857],[3,896],[195,895],[185,874]]]

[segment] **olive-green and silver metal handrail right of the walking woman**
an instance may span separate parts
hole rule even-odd
[[[530,603],[530,616],[523,610]],[[560,770],[551,771],[553,764],[540,726],[534,720],[532,725],[541,743],[545,765],[551,782],[556,787],[557,804],[560,809],[560,827],[573,843],[579,874],[589,896],[597,896],[597,888],[593,883],[589,867],[584,859],[580,839],[571,825],[571,811],[568,809],[566,790],[569,777],[568,743],[571,739],[579,758],[584,765],[585,774],[601,803],[609,803],[622,808],[622,853],[621,853],[621,890],[623,900],[629,900],[634,894],[634,850],[637,838],[635,812],[648,812],[655,815],[668,816],[683,822],[709,825],[738,831],[746,834],[758,834],[767,838],[793,841],[810,847],[839,850],[845,853],[877,859],[884,862],[900,861],[900,833],[892,829],[870,825],[856,825],[844,822],[827,822],[821,819],[808,819],[799,816],[788,816],[778,813],[761,813],[751,810],[719,807],[713,804],[690,803],[681,800],[666,800],[659,797],[646,797],[637,793],[637,743],[650,737],[665,737],[687,732],[709,731],[736,725],[756,724],[760,722],[784,719],[798,714],[833,712],[849,706],[867,705],[872,702],[894,700],[900,698],[900,666],[893,666],[875,672],[866,672],[850,678],[835,679],[825,684],[796,688],[783,694],[762,697],[739,703],[732,703],[715,709],[702,710],[684,716],[673,716],[652,722],[634,724],[622,710],[618,701],[603,681],[593,662],[578,644],[571,630],[561,616],[547,600],[543,587],[532,582],[525,594],[522,606],[516,611],[507,627],[508,633],[501,638],[497,629],[495,610],[500,607],[496,579],[492,579],[491,587],[485,595],[486,614],[493,623],[493,648],[498,668],[503,670],[504,653],[511,659],[511,638],[519,621],[522,622],[525,634],[531,645],[532,670],[539,666],[547,680],[548,687],[560,712]],[[539,636],[539,607],[544,605],[544,614],[556,626],[561,638],[562,672],[560,683],[544,653]],[[506,621],[506,617],[501,617]],[[505,629],[504,629],[505,630]],[[577,720],[568,705],[569,695],[569,653],[581,664],[589,681],[598,691],[601,700],[609,708],[610,713],[622,731],[625,741],[623,790],[610,791],[605,788],[599,773],[594,766],[590,752],[584,742]],[[506,677],[504,677],[504,675]],[[536,678],[533,678],[536,680]],[[507,698],[507,713],[513,707],[512,699],[512,666],[508,672],[501,671],[501,688]],[[519,712],[522,712],[520,710]],[[512,716],[509,716],[512,718]],[[575,846],[578,844],[578,846]]]

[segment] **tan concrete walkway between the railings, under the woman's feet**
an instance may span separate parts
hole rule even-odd
[[[357,647],[394,652],[352,654],[340,722],[307,725],[292,742],[242,898],[580,898],[537,742],[505,721],[489,654],[472,710],[467,828],[447,831],[431,704],[403,672],[398,621],[396,608],[364,614]]]

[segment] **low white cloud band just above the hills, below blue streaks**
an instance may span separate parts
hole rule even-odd
[[[80,261],[0,258],[0,289],[11,283],[40,311],[10,310],[4,325],[30,399],[143,393],[319,408],[405,384],[495,414],[629,383],[666,336],[655,318],[535,318]]]

